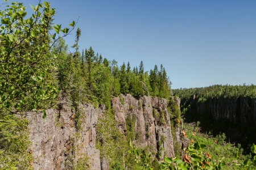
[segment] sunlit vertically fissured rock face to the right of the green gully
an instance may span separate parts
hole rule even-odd
[[[134,142],[143,147],[152,146],[152,153],[158,153],[160,159],[164,155],[175,156],[166,99],[120,95],[112,99],[112,104],[115,121],[123,134],[127,134],[127,118],[131,120],[135,116],[134,130],[138,135]]]

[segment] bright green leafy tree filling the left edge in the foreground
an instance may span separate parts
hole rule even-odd
[[[1,169],[31,168],[27,112],[42,112],[46,117],[44,109],[54,104],[59,91],[53,78],[56,56],[49,51],[70,32],[56,24],[56,33],[49,33],[55,9],[48,2],[31,8],[34,12],[27,16],[23,3],[6,2],[0,11]]]

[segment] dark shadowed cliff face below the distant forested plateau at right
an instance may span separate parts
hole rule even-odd
[[[197,113],[210,113],[214,120],[228,120],[230,124],[248,124],[256,126],[256,99],[220,97],[196,104]]]

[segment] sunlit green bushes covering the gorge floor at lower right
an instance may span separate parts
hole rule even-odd
[[[191,144],[183,149],[182,159],[164,158],[160,168],[155,168],[152,158],[150,159],[151,155],[141,152],[131,142],[129,153],[134,155],[135,162],[142,165],[144,169],[254,169],[256,166],[255,145],[251,146],[251,152],[254,155],[250,158],[249,155],[241,154],[241,146],[237,148],[231,143],[226,143],[225,134],[214,138],[198,133],[199,127],[196,125],[186,127],[187,133],[184,132],[183,135],[191,139]]]

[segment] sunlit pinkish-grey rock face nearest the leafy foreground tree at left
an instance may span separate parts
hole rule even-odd
[[[90,169],[101,169],[100,151],[96,145],[96,124],[104,107],[96,110],[92,105],[82,105],[81,130],[75,129],[75,112],[65,103],[59,108],[48,109],[47,117],[42,113],[31,113],[31,151],[34,155],[34,169],[67,169],[73,160],[88,159]],[[74,156],[75,155],[75,156]]]

